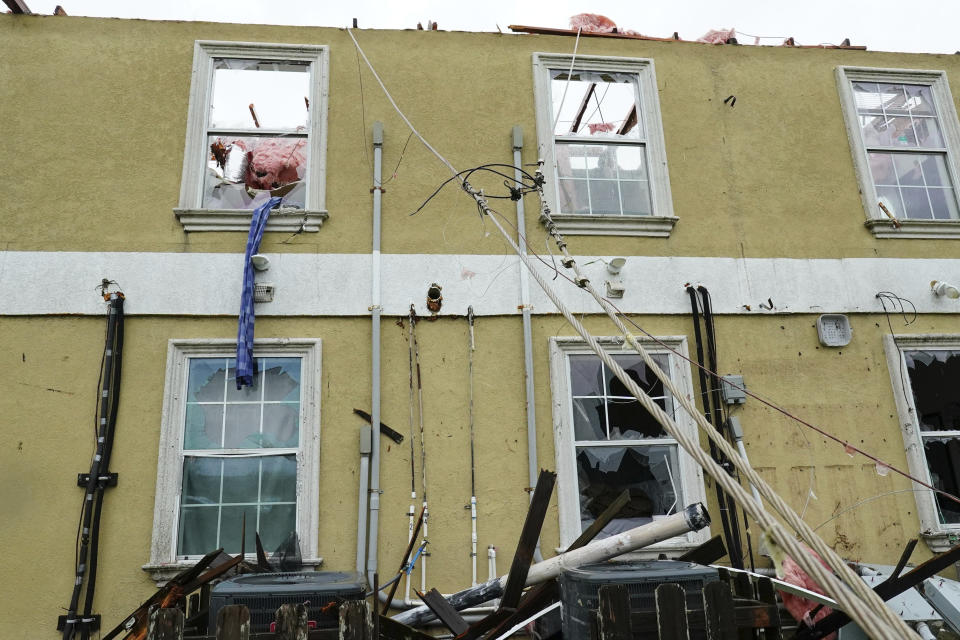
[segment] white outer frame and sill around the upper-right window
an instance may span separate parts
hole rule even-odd
[[[937,110],[938,124],[943,132],[947,149],[947,170],[953,181],[954,195],[960,200],[960,179],[957,174],[957,162],[960,161],[960,123],[954,107],[947,74],[944,71],[922,69],[875,69],[870,67],[837,67],[837,87],[843,110],[847,137],[853,151],[853,165],[860,184],[860,196],[865,223],[877,238],[960,238],[960,220],[916,220],[899,218],[894,223],[877,205],[877,189],[870,173],[867,148],[860,133],[857,119],[857,106],[853,95],[854,82],[889,82],[902,84],[920,84],[930,87],[934,106]],[[957,206],[960,207],[960,201]],[[896,224],[899,224],[897,228]]]

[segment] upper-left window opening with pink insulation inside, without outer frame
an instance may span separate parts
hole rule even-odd
[[[304,208],[310,63],[216,58],[203,207],[254,209],[271,196]]]

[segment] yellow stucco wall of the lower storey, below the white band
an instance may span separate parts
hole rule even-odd
[[[690,332],[687,318],[639,317],[655,335]],[[718,318],[721,367],[741,373],[749,388],[835,435],[905,468],[903,443],[882,350],[883,316],[856,316],[856,339],[842,350],[818,346],[815,316]],[[597,335],[609,323],[588,317]],[[882,327],[882,328],[881,328]],[[0,637],[24,625],[47,636],[73,582],[73,539],[82,492],[75,474],[92,451],[93,402],[103,320],[3,318],[0,353],[6,388],[0,486],[4,517],[0,540],[10,550],[14,580],[0,583],[0,601],[16,616],[0,619]],[[917,332],[956,331],[955,321],[921,317]],[[394,319],[383,331],[383,420],[408,432],[407,332]],[[152,593],[140,569],[149,559],[166,344],[171,338],[228,338],[232,319],[128,318],[118,431],[111,468],[119,486],[108,491],[101,538],[96,611],[111,624]],[[362,319],[265,318],[258,337],[323,339],[320,555],[329,569],[350,570],[355,559],[357,430],[353,408],[369,407],[369,323]],[[548,344],[572,335],[556,316],[535,318],[538,451],[554,468]],[[43,336],[42,339],[40,336]],[[462,318],[418,324],[424,384],[432,556],[429,585],[455,590],[469,582],[469,443],[467,438],[467,327]],[[690,337],[692,340],[692,336]],[[517,318],[480,318],[476,327],[475,407],[480,549],[499,549],[508,568],[519,536],[527,493],[523,413],[523,359]],[[879,476],[869,461],[801,430],[749,400],[736,411],[753,464],[805,520],[817,526],[864,498],[908,489],[894,475]],[[384,439],[380,565],[391,573],[406,545],[409,504],[408,442]],[[417,452],[419,456],[419,451]],[[417,463],[419,474],[419,461]],[[419,485],[419,478],[418,478]],[[712,484],[707,484],[714,532],[719,531]],[[809,490],[816,495],[804,510]],[[820,529],[828,544],[851,560],[893,563],[919,523],[911,493],[875,500]],[[547,555],[559,543],[556,499],[543,530]],[[921,545],[914,558],[928,557]],[[759,558],[758,558],[759,560]],[[480,576],[486,575],[481,561]],[[12,635],[11,635],[12,634]]]

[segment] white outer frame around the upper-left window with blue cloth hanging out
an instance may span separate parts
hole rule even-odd
[[[307,44],[217,42],[197,40],[187,117],[187,139],[180,180],[180,205],[174,213],[184,231],[248,231],[251,211],[204,209],[203,178],[210,153],[207,144],[215,58],[298,60],[310,63],[310,118],[307,129],[307,195],[304,209],[283,208],[271,213],[267,231],[319,231],[326,211],[327,97],[329,47]]]

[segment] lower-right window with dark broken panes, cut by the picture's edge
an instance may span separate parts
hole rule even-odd
[[[960,336],[887,336],[887,362],[910,473],[960,495]],[[960,536],[960,505],[931,491],[915,494],[934,551]]]

